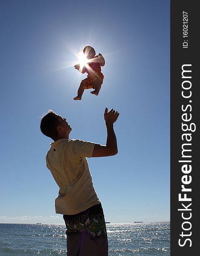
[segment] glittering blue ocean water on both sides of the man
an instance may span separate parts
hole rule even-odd
[[[169,256],[170,222],[106,224],[109,256]],[[66,256],[65,224],[0,224],[0,256]]]

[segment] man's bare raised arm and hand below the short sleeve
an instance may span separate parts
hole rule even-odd
[[[108,157],[117,154],[117,138],[114,133],[113,124],[117,120],[119,113],[114,109],[108,112],[108,108],[105,109],[104,119],[107,128],[107,140],[106,145],[95,144],[91,157]]]

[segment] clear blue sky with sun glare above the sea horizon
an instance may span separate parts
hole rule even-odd
[[[88,159],[106,221],[169,221],[169,0],[3,0],[0,20],[0,223],[63,223],[40,117],[52,109],[70,138],[105,144],[106,107],[120,112],[118,154]],[[86,44],[106,60],[104,82],[74,101]]]

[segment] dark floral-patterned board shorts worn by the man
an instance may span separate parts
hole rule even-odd
[[[108,256],[106,222],[101,204],[75,215],[63,215],[67,256]]]

